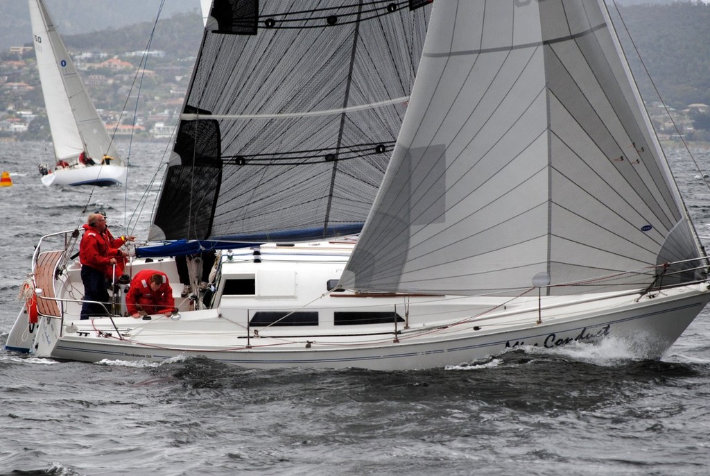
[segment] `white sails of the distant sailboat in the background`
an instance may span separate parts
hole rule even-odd
[[[99,161],[104,155],[122,165],[104,123],[97,113],[62,38],[41,0],[29,0],[37,67],[55,156],[67,160],[82,151]]]

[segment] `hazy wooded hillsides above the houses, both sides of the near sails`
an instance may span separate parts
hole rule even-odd
[[[160,5],[160,0],[46,1],[70,49],[109,53],[143,50]],[[644,3],[639,4],[641,1]],[[710,5],[650,1],[616,0],[616,4],[662,99],[677,108],[693,102],[710,104]],[[653,101],[651,82],[626,38],[614,5],[608,1],[644,99]],[[152,49],[177,58],[194,55],[202,34],[199,7],[200,0],[165,1],[161,18],[168,23],[160,21]],[[0,11],[0,49],[30,43],[26,0],[0,0]],[[3,36],[12,39],[3,43]]]

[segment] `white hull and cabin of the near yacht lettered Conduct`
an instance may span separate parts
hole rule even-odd
[[[300,252],[300,254],[299,254]],[[664,290],[654,298],[638,293],[543,298],[538,324],[537,296],[461,298],[435,296],[355,296],[324,294],[325,283],[342,269],[347,254],[287,254],[262,248],[254,262],[249,254],[224,262],[217,289],[217,308],[187,310],[176,296],[180,320],[96,318],[78,320],[81,280],[78,266],[55,282],[66,300],[60,318],[41,318],[32,328],[26,314],[8,337],[7,348],[38,357],[99,362],[103,359],[160,362],[178,356],[203,356],[243,367],[362,367],[427,369],[497,355],[522,345],[558,347],[615,337],[641,358],[657,358],[677,340],[710,301],[704,284]],[[296,261],[296,259],[298,261]],[[136,261],[137,269],[160,269],[177,282],[174,262]],[[254,295],[224,296],[230,278],[256,276]],[[294,280],[291,280],[291,277]],[[271,278],[271,283],[265,281]],[[180,286],[173,286],[177,294]],[[292,293],[292,291],[298,291]],[[654,293],[657,294],[657,293]],[[395,311],[404,322],[336,325],[336,312]],[[249,325],[259,311],[316,312],[317,325]],[[253,322],[253,321],[252,321]],[[249,328],[249,332],[247,332]],[[256,331],[256,332],[255,332]],[[256,336],[258,332],[259,337]],[[396,339],[395,339],[396,337]]]

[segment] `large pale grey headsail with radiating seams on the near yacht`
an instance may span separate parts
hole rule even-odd
[[[603,0],[435,2],[342,285],[513,294],[541,271],[560,284],[648,266],[584,286],[640,288],[697,256]]]

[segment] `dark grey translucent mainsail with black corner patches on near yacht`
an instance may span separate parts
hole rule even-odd
[[[215,0],[149,239],[359,232],[430,2]]]

